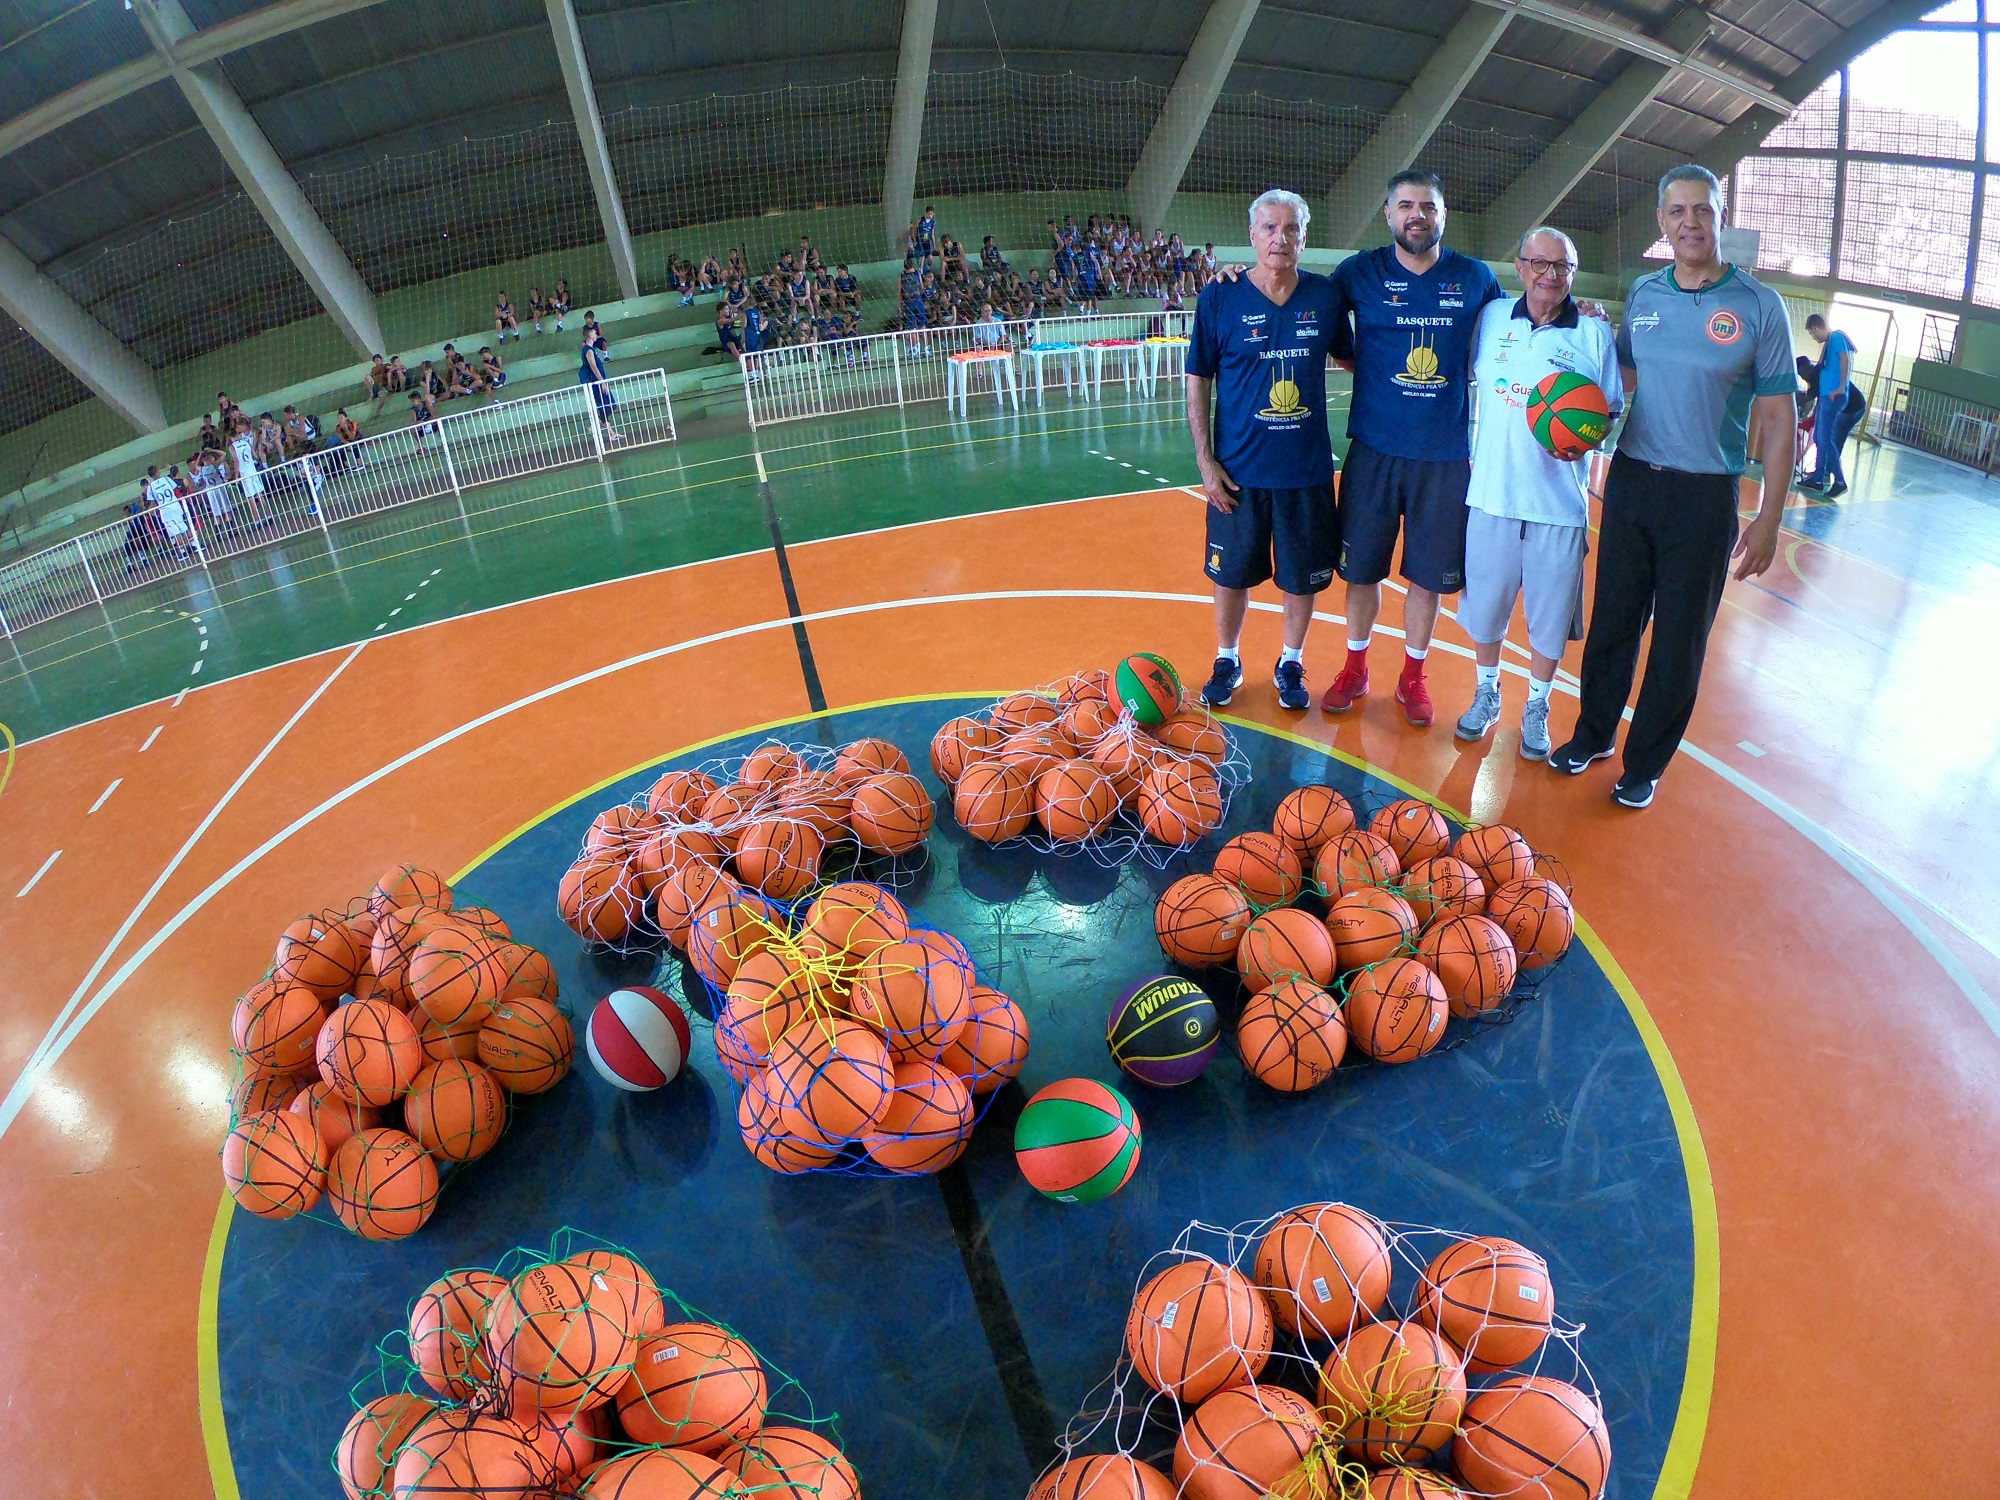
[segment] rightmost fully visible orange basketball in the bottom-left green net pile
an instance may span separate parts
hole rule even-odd
[[[768,1400],[756,1350],[726,1328],[676,1322],[638,1346],[618,1420],[632,1442],[718,1454],[764,1426]]]

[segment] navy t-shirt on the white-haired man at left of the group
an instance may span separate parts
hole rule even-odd
[[[1202,288],[1188,374],[1216,382],[1214,454],[1236,484],[1304,490],[1334,478],[1326,430],[1334,310],[1334,284],[1310,270],[1284,306],[1248,276]]]

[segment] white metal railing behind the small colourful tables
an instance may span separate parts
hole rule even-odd
[[[1034,358],[1030,350],[1038,346],[1046,350],[1050,344],[1070,344],[1088,350],[1090,344],[1102,342],[1186,338],[1192,328],[1192,312],[1102,312],[1082,318],[954,324],[834,338],[824,344],[792,344],[742,356],[744,402],[750,408],[752,428],[882,406],[942,402],[952,354],[1002,350],[1018,368]],[[1178,380],[1182,372],[1178,350],[1170,366]],[[1102,382],[1138,384],[1148,368],[1140,360],[1112,360],[1102,366]],[[1018,374],[1016,388],[1022,384]]]

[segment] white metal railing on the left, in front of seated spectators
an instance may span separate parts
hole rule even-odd
[[[224,480],[146,506],[0,568],[0,632],[12,636],[314,530],[332,540],[334,526],[358,516],[676,440],[664,370],[612,376],[606,388],[602,422],[592,388],[566,386],[336,444],[248,482]]]

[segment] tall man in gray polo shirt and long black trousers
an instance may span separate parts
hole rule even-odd
[[[1674,264],[1640,276],[1618,330],[1632,414],[1604,482],[1598,584],[1584,640],[1582,712],[1548,764],[1570,776],[1612,754],[1652,618],[1646,680],[1612,800],[1644,808],[1694,716],[1722,586],[1764,572],[1792,482],[1798,372],[1784,300],[1722,262],[1722,184],[1702,166],[1660,178]],[[1738,536],[1736,488],[1752,406],[1764,494]]]

